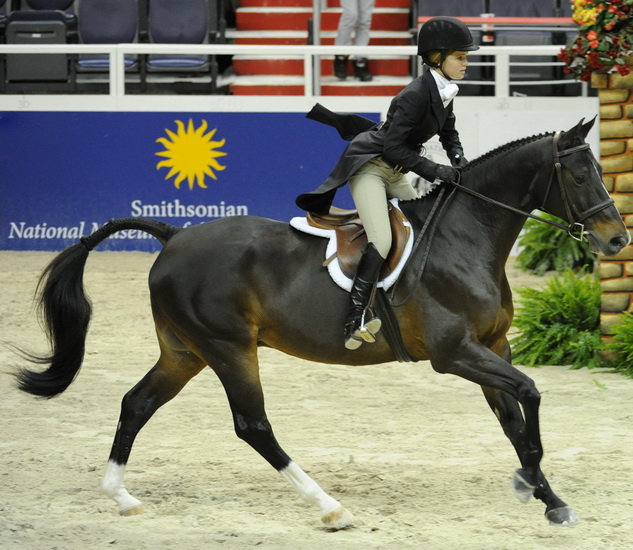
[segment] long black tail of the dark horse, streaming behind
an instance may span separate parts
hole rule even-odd
[[[55,397],[66,390],[79,373],[92,315],[92,305],[83,285],[86,260],[95,246],[123,229],[149,233],[162,245],[180,231],[173,225],[143,218],[110,220],[57,255],[42,273],[36,291],[51,353],[36,355],[20,351],[30,362],[48,367],[42,372],[20,368],[15,374],[20,390],[43,398]]]

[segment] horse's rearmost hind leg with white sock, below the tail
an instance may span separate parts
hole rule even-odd
[[[163,350],[152,370],[123,398],[116,435],[101,483],[102,492],[118,504],[121,515],[135,515],[143,511],[141,501],[130,495],[123,483],[136,436],[152,415],[173,399],[205,366],[190,352]]]

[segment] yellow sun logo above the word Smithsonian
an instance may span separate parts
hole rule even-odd
[[[218,157],[227,155],[223,151],[218,151],[225,144],[226,139],[212,141],[211,138],[215,135],[217,128],[205,134],[208,126],[206,120],[203,120],[198,128],[194,128],[192,120],[189,119],[186,129],[182,121],[175,122],[178,126],[176,133],[165,128],[170,139],[161,137],[156,140],[165,147],[165,150],[155,155],[166,157],[166,160],[161,160],[156,165],[156,170],[169,168],[165,179],[175,176],[174,185],[177,189],[180,189],[180,184],[185,179],[189,184],[189,189],[193,189],[194,182],[206,189],[205,176],[217,180],[214,170],[219,172],[226,168],[216,160]]]

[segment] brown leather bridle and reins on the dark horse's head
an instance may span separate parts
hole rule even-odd
[[[452,181],[449,183],[453,185],[456,189],[459,189],[460,191],[464,191],[465,193],[468,193],[469,195],[473,195],[474,197],[477,197],[481,200],[489,202],[490,204],[494,204],[501,208],[505,208],[506,210],[510,210],[512,212],[515,212],[516,214],[521,214],[522,216],[527,216],[528,218],[532,218],[533,220],[537,220],[539,222],[547,223],[549,225],[553,225],[554,227],[558,227],[559,229],[566,231],[567,234],[573,239],[576,239],[577,241],[582,241],[585,235],[588,234],[587,231],[585,231],[585,226],[582,222],[584,222],[587,218],[593,216],[597,212],[600,212],[604,210],[605,208],[608,208],[614,203],[614,201],[611,197],[609,197],[607,200],[599,204],[596,204],[595,206],[592,206],[591,208],[588,208],[587,210],[583,212],[578,211],[578,209],[576,208],[576,205],[573,204],[571,200],[569,199],[569,192],[565,184],[565,179],[563,178],[563,170],[562,170],[562,165],[560,163],[560,159],[561,157],[573,155],[574,153],[577,153],[579,151],[584,151],[586,149],[589,149],[589,144],[583,143],[581,145],[576,145],[575,147],[570,147],[569,149],[564,149],[563,151],[559,151],[558,141],[560,140],[560,136],[561,136],[561,132],[556,132],[554,134],[554,139],[552,142],[553,149],[554,149],[553,151],[554,165],[552,167],[552,172],[550,173],[549,182],[547,184],[547,190],[545,192],[545,196],[543,197],[543,206],[541,206],[538,210],[547,212],[545,208],[545,204],[547,204],[549,194],[553,187],[552,184],[554,182],[554,174],[556,174],[556,181],[558,182],[558,188],[559,188],[561,197],[563,199],[563,204],[565,206],[565,213],[567,215],[567,219],[570,221],[569,225],[563,225],[562,223],[558,223],[554,220],[540,218],[539,216],[536,216],[532,214],[531,212],[525,212],[519,208],[515,208],[514,206],[510,206],[508,204],[492,199],[486,195],[482,195],[481,193],[473,189],[464,187],[460,183],[461,172],[459,172],[459,177],[457,178],[457,181]]]

